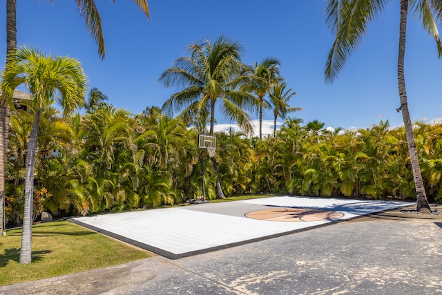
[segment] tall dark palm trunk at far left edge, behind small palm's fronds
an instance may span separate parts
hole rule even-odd
[[[17,0],[6,0],[6,55],[17,48]],[[8,155],[10,108],[0,103],[0,231],[6,229],[4,212],[6,156]],[[6,232],[6,231],[5,231]]]

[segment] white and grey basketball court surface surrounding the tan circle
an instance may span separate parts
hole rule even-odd
[[[413,203],[281,196],[108,213],[71,218],[71,221],[168,258],[180,258],[410,204]],[[307,222],[255,220],[244,216],[249,211],[278,207],[338,211],[344,216]]]

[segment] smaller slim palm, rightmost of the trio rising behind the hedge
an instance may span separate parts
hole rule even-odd
[[[288,113],[302,110],[302,108],[289,106],[289,99],[296,95],[296,92],[291,91],[291,88],[286,91],[286,87],[287,84],[285,82],[277,84],[271,89],[269,94],[271,105],[273,106],[273,137],[276,135],[276,120],[278,120],[278,117],[285,119]]]

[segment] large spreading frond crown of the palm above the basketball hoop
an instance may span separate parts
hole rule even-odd
[[[223,115],[235,120],[250,135],[253,133],[251,117],[251,95],[236,90],[244,81],[240,73],[243,48],[238,41],[220,36],[214,42],[205,39],[200,44],[189,46],[189,55],[174,61],[174,66],[165,70],[158,79],[165,87],[182,88],[171,95],[162,106],[168,113],[181,111],[180,117],[192,117],[206,123],[210,116],[210,134],[215,124],[215,105],[220,103]]]

